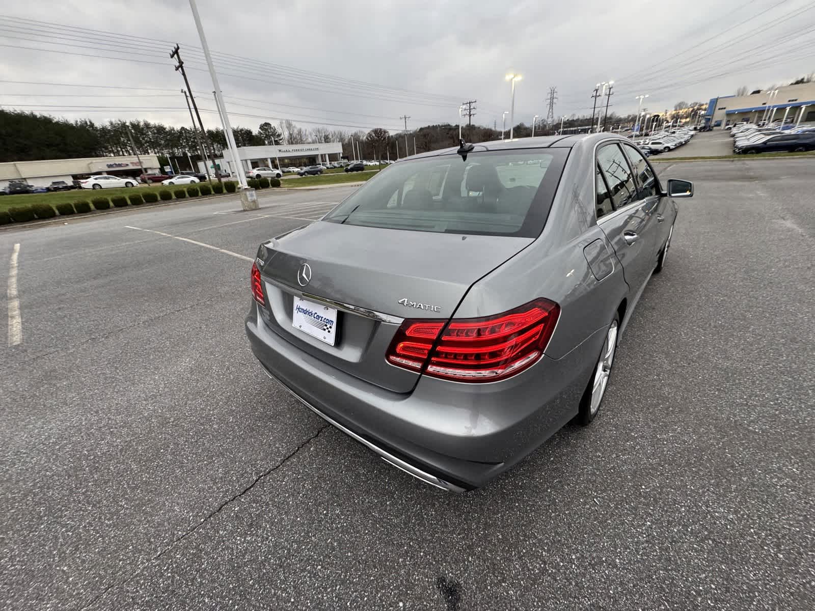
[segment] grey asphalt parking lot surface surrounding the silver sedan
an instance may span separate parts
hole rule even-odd
[[[0,606],[815,608],[815,160],[657,169],[696,196],[601,415],[465,495],[249,351],[258,243],[354,187],[0,231]]]

